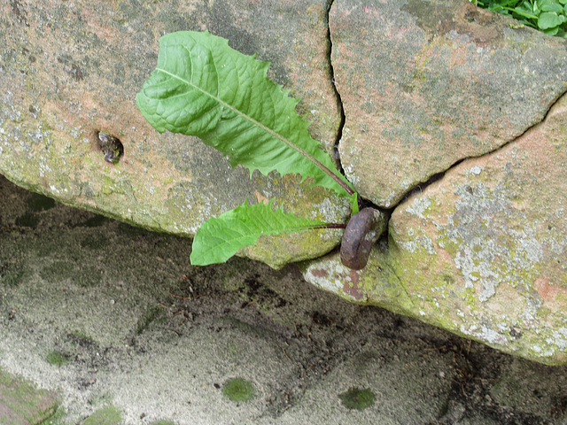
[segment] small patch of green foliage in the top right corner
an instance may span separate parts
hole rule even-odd
[[[479,7],[510,15],[526,27],[567,38],[567,0],[470,0]]]

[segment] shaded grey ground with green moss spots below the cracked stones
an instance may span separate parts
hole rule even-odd
[[[0,176],[0,424],[562,424],[567,368]]]

